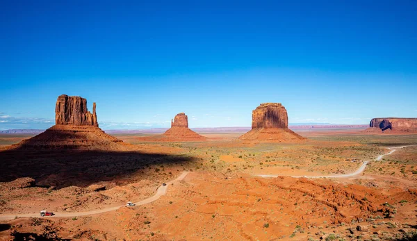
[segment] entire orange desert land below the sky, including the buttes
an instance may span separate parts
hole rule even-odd
[[[414,119],[294,132],[262,103],[247,133],[180,113],[162,135],[108,135],[85,106],[61,95],[55,126],[1,135],[1,240],[416,238]]]

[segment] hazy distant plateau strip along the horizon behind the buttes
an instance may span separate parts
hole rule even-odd
[[[346,124],[329,124],[329,123],[294,123],[288,126],[292,130],[302,131],[302,130],[311,130],[311,129],[348,129],[348,128],[358,128],[364,129],[368,128],[368,124],[362,125],[346,125]],[[104,130],[109,134],[135,134],[135,133],[144,133],[144,134],[158,134],[164,133],[168,128],[149,128],[149,129],[135,129],[135,130]],[[191,128],[193,131],[199,133],[228,133],[228,132],[247,132],[250,131],[250,126],[243,127],[198,127]],[[42,133],[45,130],[42,129],[10,129],[6,131],[0,131],[0,134],[33,134],[37,135]]]

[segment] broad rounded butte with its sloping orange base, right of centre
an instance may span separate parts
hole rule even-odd
[[[252,130],[240,136],[239,139],[270,142],[305,140],[288,128],[288,114],[281,103],[261,103],[255,110],[252,110]]]

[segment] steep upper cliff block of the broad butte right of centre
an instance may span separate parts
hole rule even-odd
[[[252,129],[288,128],[288,114],[281,103],[261,103],[252,111]]]

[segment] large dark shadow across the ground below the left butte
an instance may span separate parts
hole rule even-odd
[[[37,185],[65,188],[145,175],[154,166],[193,163],[194,158],[140,151],[14,149],[0,151],[0,160],[0,182],[31,177]]]

